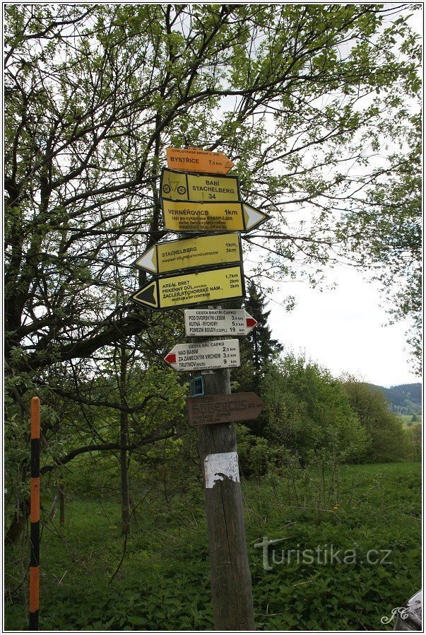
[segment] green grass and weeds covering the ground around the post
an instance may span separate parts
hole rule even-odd
[[[303,494],[317,487],[306,474],[294,483],[269,475],[242,484],[256,629],[391,629],[380,618],[420,588],[420,464],[344,466],[338,500],[333,495],[326,506]],[[64,528],[45,525],[41,630],[213,629],[201,485],[169,505],[151,494],[139,510],[115,576],[123,553],[117,501],[74,499]],[[355,561],[309,564],[293,556],[273,564],[270,554],[265,571],[254,547],[262,536],[285,537],[286,551],[324,554],[333,544],[353,550]],[[389,551],[386,562],[369,564],[372,549]],[[8,586],[19,578],[19,557],[7,554]],[[21,591],[6,603],[8,630],[26,627]]]

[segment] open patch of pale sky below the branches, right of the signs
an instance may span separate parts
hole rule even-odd
[[[348,267],[333,269],[328,281],[336,289],[311,289],[306,282],[276,283],[268,302],[268,325],[285,351],[303,352],[332,375],[356,375],[360,380],[389,387],[420,381],[411,371],[405,331],[407,324],[386,325],[389,315],[380,306],[379,286]],[[295,296],[295,308],[279,304]],[[406,350],[405,350],[406,349]]]

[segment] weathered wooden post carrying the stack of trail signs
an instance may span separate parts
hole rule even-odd
[[[229,395],[230,371],[224,369],[208,373],[204,375],[204,383],[206,395]],[[234,478],[219,473],[212,484],[211,474],[206,474],[206,458],[210,457],[212,462],[212,455],[226,453],[226,458],[231,459],[235,455],[237,461],[234,424],[198,426],[198,431],[206,492],[215,630],[254,631],[252,578],[239,477],[235,477],[235,471]]]

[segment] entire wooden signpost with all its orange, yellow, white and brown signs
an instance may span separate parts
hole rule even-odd
[[[185,311],[186,332],[192,337],[247,335],[257,322],[244,309],[199,307],[245,297],[241,242],[235,232],[251,231],[269,216],[242,202],[238,177],[225,175],[233,164],[223,153],[168,148],[167,163],[184,172],[162,170],[165,229],[208,236],[158,243],[141,255],[136,266],[159,277],[131,299],[152,310],[195,306]],[[231,394],[229,368],[240,365],[237,339],[177,344],[165,361],[177,371],[205,371],[191,382],[187,409],[189,424],[198,426],[215,629],[254,631],[232,422],[256,419],[264,404],[253,392]]]

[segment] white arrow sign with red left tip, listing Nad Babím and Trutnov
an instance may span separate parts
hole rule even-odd
[[[237,368],[241,363],[237,339],[217,339],[213,342],[176,344],[164,359],[175,371]]]

